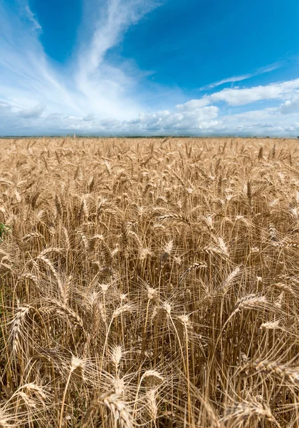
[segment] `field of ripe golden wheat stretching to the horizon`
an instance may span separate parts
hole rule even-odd
[[[299,426],[299,143],[0,140],[0,427]]]

